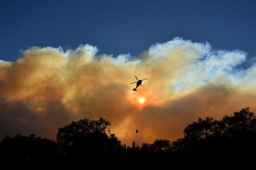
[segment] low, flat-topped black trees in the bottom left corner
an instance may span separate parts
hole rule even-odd
[[[30,168],[34,165],[41,167],[58,164],[57,143],[47,138],[36,137],[35,134],[14,137],[6,135],[0,143],[1,161],[9,168]]]

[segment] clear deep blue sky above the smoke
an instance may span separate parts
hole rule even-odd
[[[1,0],[0,59],[30,46],[96,45],[99,53],[136,56],[183,37],[256,56],[256,1]]]

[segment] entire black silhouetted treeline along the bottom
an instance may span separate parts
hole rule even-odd
[[[82,119],[58,129],[57,140],[5,136],[0,159],[10,169],[216,169],[254,165],[256,118],[250,108],[222,120],[198,118],[175,141],[156,139],[138,146],[121,144],[111,123]]]

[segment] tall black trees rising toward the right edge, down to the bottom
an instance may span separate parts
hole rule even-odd
[[[191,164],[201,162],[201,165],[207,166],[208,161],[214,161],[215,167],[245,167],[249,165],[245,162],[252,161],[249,155],[256,151],[255,120],[250,108],[234,112],[233,116],[224,116],[221,121],[198,118],[184,129],[184,138],[171,143],[171,148],[182,154],[182,161]]]

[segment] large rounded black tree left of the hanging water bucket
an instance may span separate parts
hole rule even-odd
[[[111,123],[81,119],[58,129],[57,143],[64,156],[65,167],[86,163],[89,169],[103,168],[121,149],[121,141],[110,133]]]

